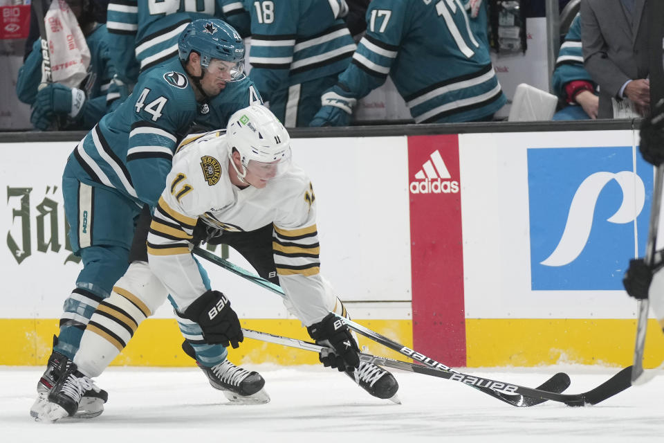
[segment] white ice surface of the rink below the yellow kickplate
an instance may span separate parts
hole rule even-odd
[[[0,367],[0,442],[662,442],[664,375],[596,406],[551,401],[515,408],[461,383],[394,371],[403,404],[374,399],[338,372],[313,366],[257,368],[272,401],[230,406],[197,368],[109,368],[109,392],[90,420],[33,422],[28,410],[42,368]],[[593,388],[618,368],[564,366],[465,370],[537,386],[567,372],[569,393]],[[366,439],[366,440],[365,440]]]

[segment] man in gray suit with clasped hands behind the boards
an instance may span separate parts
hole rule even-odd
[[[645,0],[581,1],[584,66],[600,87],[598,118],[626,117],[630,110],[640,116],[649,112],[644,4]]]

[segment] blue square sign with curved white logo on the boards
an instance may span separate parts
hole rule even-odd
[[[531,287],[620,290],[643,256],[653,168],[631,146],[528,149]]]

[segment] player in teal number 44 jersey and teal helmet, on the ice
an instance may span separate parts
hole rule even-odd
[[[132,95],[104,116],[69,156],[62,179],[64,208],[71,245],[84,267],[64,302],[59,336],[30,410],[33,417],[39,418],[58,371],[71,363],[95,309],[111,293],[133,303],[131,293],[120,289],[124,295],[116,294],[114,287],[129,264],[140,208],[156,204],[178,139],[192,123],[223,127],[234,111],[260,102],[243,74],[242,40],[228,24],[194,21],[178,46],[181,60],[141,75]],[[149,306],[139,309],[151,314]],[[117,343],[124,341],[118,338]],[[202,356],[196,349],[196,359],[225,356],[219,348],[206,347]],[[105,392],[91,387],[84,399],[77,415],[102,412]]]

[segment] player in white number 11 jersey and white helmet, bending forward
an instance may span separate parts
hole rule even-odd
[[[231,299],[241,294],[211,288],[191,253],[201,237],[245,246],[241,253],[261,276],[281,285],[286,307],[307,325],[311,337],[333,350],[320,356],[324,365],[346,372],[375,397],[396,395],[394,376],[360,362],[347,325],[331,314],[345,316],[346,310],[320,273],[313,186],[291,163],[288,132],[266,107],[241,109],[231,116],[227,134],[208,132],[178,147],[147,235],[149,271],[134,276],[142,281],[142,289],[133,293],[139,304],[158,305],[170,294],[178,322],[197,324],[206,343],[238,347],[243,334]],[[48,396],[49,419],[75,411],[90,377],[107,364],[99,354],[109,345],[86,345],[85,339]],[[247,373],[229,378],[243,379]]]

